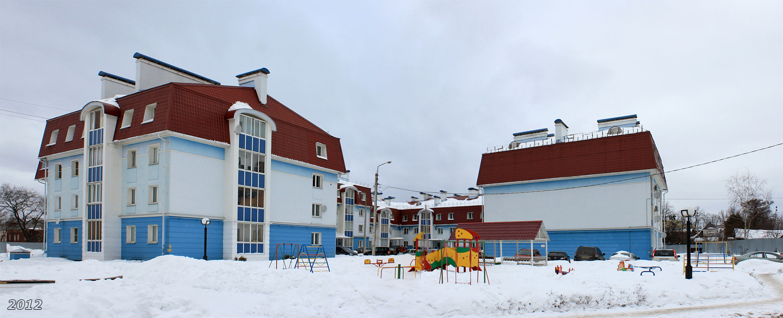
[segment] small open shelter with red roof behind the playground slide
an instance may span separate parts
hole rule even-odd
[[[537,249],[543,262],[532,263],[547,264],[550,239],[543,221],[459,223],[456,228],[476,232],[481,237],[478,241],[484,243],[484,254],[487,257],[514,259],[520,249]],[[453,239],[452,233],[449,240]]]

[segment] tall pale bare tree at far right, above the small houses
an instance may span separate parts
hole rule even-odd
[[[745,170],[744,173],[734,173],[726,180],[726,191],[731,198],[730,208],[736,209],[742,217],[745,237],[754,223],[764,218],[764,213],[769,211],[772,201],[772,191],[767,190],[767,180],[756,177],[755,174]],[[766,204],[766,208],[764,206]],[[767,214],[768,216],[768,214]]]

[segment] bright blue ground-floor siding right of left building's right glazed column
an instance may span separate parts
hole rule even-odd
[[[309,245],[312,232],[321,234],[321,245],[327,252],[327,257],[334,257],[334,248],[337,244],[337,229],[334,227],[272,224],[269,226],[269,259],[274,259],[277,244]]]

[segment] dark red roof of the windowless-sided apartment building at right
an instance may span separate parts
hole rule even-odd
[[[587,176],[663,165],[649,131],[482,155],[476,184]]]

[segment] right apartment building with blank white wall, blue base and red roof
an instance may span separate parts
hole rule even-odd
[[[549,250],[568,254],[579,245],[640,257],[662,248],[666,178],[637,116],[598,120],[598,130],[586,134],[554,123],[554,134],[520,132],[482,155],[485,221],[543,220]]]

